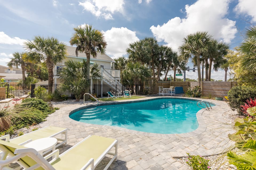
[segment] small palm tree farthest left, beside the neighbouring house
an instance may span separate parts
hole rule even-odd
[[[23,84],[25,84],[25,82],[26,82],[25,71],[26,71],[26,67],[28,65],[28,63],[24,60],[25,55],[26,55],[26,53],[15,52],[15,53],[13,53],[13,57],[10,58],[11,61],[9,61],[7,63],[7,66],[10,68],[13,68],[13,67],[18,68],[19,66],[21,66],[22,83]]]

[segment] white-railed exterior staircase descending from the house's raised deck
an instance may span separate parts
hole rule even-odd
[[[113,91],[120,93],[123,91],[123,84],[115,79],[107,70],[101,68],[101,75],[103,77],[103,82],[108,84]]]

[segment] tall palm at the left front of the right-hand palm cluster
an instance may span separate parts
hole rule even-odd
[[[207,32],[189,34],[183,39],[183,44],[179,47],[182,60],[187,61],[189,58],[195,58],[197,61],[199,84],[201,84],[200,56],[208,50],[206,41],[211,39],[211,37]]]

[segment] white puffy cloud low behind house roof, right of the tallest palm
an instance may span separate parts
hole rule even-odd
[[[126,54],[126,48],[130,43],[139,41],[135,31],[131,31],[127,28],[114,28],[106,32],[102,31],[107,42],[106,53],[113,57],[121,57]]]

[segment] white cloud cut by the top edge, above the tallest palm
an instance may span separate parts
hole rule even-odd
[[[104,17],[106,20],[113,19],[111,14],[115,12],[123,12],[123,0],[89,0],[79,2],[84,10],[91,12],[97,17]]]

